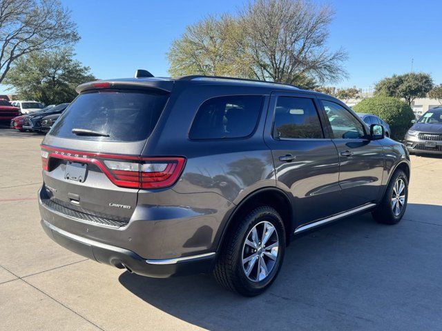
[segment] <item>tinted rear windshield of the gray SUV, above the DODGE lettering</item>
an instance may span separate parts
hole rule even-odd
[[[169,94],[100,91],[80,94],[66,109],[50,134],[97,141],[140,141],[155,127]],[[73,129],[101,132],[104,136],[74,134]]]

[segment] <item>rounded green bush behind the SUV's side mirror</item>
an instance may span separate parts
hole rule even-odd
[[[367,98],[353,107],[355,112],[374,114],[390,124],[392,139],[403,140],[414,119],[413,110],[404,101],[392,97]]]

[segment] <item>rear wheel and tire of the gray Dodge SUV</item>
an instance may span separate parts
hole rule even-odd
[[[253,229],[256,229],[256,232]],[[261,243],[262,237],[266,237],[263,235],[264,232],[271,235],[267,236],[265,243]],[[258,245],[255,245],[256,242]],[[273,208],[258,207],[230,229],[215,263],[213,274],[218,283],[227,290],[245,297],[254,297],[267,290],[276,279],[284,253],[285,227],[280,215]],[[243,259],[249,261],[243,264]]]

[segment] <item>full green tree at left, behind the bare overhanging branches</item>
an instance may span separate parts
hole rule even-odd
[[[73,51],[64,48],[54,52],[33,52],[17,59],[5,82],[22,99],[39,100],[46,105],[72,101],[75,88],[93,81],[90,68],[73,59]]]

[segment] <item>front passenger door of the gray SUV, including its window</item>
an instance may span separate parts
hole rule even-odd
[[[368,139],[367,127],[343,104],[334,99],[321,103],[339,153],[339,183],[347,209],[376,201],[384,168],[381,143]]]

